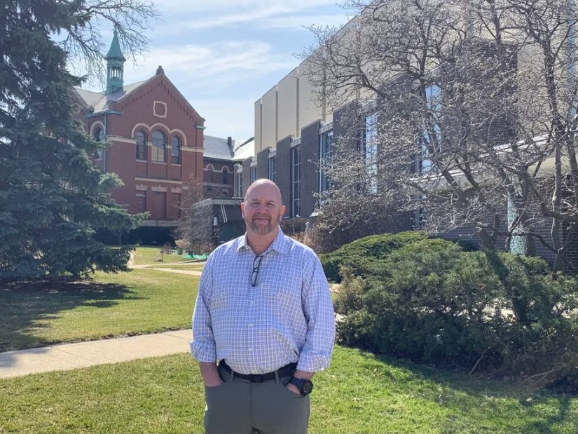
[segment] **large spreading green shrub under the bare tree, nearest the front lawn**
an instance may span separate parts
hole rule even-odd
[[[421,239],[366,261],[363,278],[342,270],[342,344],[541,384],[578,379],[578,281],[551,280],[542,259]]]

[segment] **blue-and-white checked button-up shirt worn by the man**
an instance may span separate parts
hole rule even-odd
[[[253,287],[254,259],[246,236],[207,259],[193,313],[193,357],[224,359],[241,374],[265,374],[291,362],[305,372],[329,367],[335,319],[315,252],[279,229]]]

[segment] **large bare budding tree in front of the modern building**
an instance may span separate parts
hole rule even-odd
[[[404,209],[427,208],[426,229],[470,226],[488,248],[523,240],[530,255],[538,242],[561,268],[578,223],[569,3],[350,1],[359,15],[348,27],[314,29],[319,46],[305,55],[317,100],[361,99],[349,117],[376,118],[337,138],[361,161],[326,168],[334,185],[354,187],[323,207],[348,197],[350,209],[387,208],[399,197],[382,192],[394,190]]]

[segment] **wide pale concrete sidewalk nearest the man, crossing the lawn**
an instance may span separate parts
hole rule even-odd
[[[0,353],[0,379],[188,353],[191,329]]]

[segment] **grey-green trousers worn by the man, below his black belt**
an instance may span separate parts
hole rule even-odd
[[[306,434],[309,396],[287,389],[289,377],[252,383],[219,368],[225,381],[205,387],[206,434]]]

